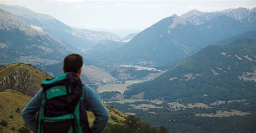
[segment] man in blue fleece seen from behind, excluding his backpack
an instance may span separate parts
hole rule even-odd
[[[82,66],[83,57],[78,54],[70,54],[64,59],[63,71],[75,72],[77,76],[80,77]],[[80,96],[85,100],[86,110],[90,110],[95,115],[95,121],[93,121],[93,125],[90,128],[91,131],[101,132],[109,119],[109,111],[103,105],[99,95],[91,87],[83,86]],[[33,132],[37,132],[36,114],[41,107],[43,99],[43,89],[41,88],[22,112],[25,124],[28,125]]]

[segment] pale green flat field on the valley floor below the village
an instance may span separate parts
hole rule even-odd
[[[111,92],[111,91],[118,91],[121,92],[122,94],[124,93],[124,91],[127,90],[127,86],[132,85],[132,84],[136,84],[136,83],[140,83],[140,82],[144,82],[146,80],[127,80],[125,82],[125,84],[107,84],[107,85],[100,85],[97,88],[97,92],[98,93],[102,93],[102,92]]]

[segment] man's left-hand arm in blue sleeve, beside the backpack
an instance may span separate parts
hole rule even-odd
[[[22,117],[25,124],[36,132],[36,113],[38,112],[41,102],[43,100],[43,89],[41,88],[35,96],[30,100],[29,104],[25,106],[22,111]]]

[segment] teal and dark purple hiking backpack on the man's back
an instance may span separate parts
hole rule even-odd
[[[41,83],[43,101],[37,114],[37,132],[91,132],[85,100],[80,97],[83,84],[75,72],[67,72]]]

